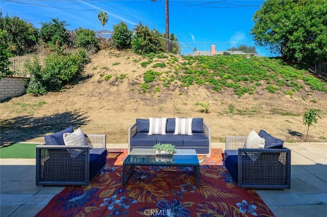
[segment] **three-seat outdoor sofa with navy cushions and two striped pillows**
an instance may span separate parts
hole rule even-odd
[[[160,132],[155,132],[154,120],[160,121]],[[187,126],[181,127],[182,122]],[[181,128],[185,131],[181,132]],[[149,129],[154,131],[151,135]],[[150,149],[156,143],[171,143],[176,149],[195,149],[197,155],[211,155],[211,130],[203,118],[137,118],[128,129],[128,151]]]

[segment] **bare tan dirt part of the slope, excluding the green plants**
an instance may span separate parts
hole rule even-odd
[[[285,141],[303,141],[305,109],[327,112],[327,94],[317,91],[308,95],[301,90],[291,98],[282,91],[260,90],[238,98],[231,89],[212,92],[202,86],[181,88],[174,83],[158,92],[140,93],[137,84],[143,83],[145,71],[174,71],[172,64],[142,67],[143,61],[147,59],[129,52],[101,51],[86,65],[85,75],[90,78],[83,83],[41,97],[26,94],[1,103],[1,143],[43,141],[45,134],[68,126],[80,126],[88,134],[106,134],[109,143],[127,143],[128,128],[135,118],[150,116],[203,117],[212,130],[213,142],[223,142],[226,135],[248,135],[252,129],[264,129]],[[154,59],[152,65],[162,61]],[[108,75],[111,79],[106,81]],[[151,85],[160,84],[155,81]],[[202,107],[196,103],[209,103],[209,113],[199,112]],[[315,126],[310,128],[309,140],[327,141],[327,116]]]

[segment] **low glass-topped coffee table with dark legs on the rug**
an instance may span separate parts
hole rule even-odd
[[[124,186],[134,166],[190,166],[194,168],[196,186],[200,186],[200,163],[195,149],[176,149],[171,156],[156,155],[154,149],[132,149],[123,162]]]

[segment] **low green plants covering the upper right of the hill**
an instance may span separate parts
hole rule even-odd
[[[181,62],[175,62],[174,58],[168,56],[166,59],[168,65],[174,61],[174,71],[146,71],[145,83],[141,84],[142,92],[153,91],[155,87],[151,88],[149,83],[155,80],[164,82],[162,87],[179,83],[181,87],[203,85],[212,91],[232,88],[239,97],[245,93],[253,94],[260,88],[270,93],[280,90],[285,94],[294,95],[294,92],[305,88],[303,84],[309,85],[312,90],[327,92],[326,82],[308,74],[306,69],[287,65],[278,58],[217,55],[185,56]],[[150,63],[151,61],[142,62],[141,65],[148,67]],[[164,63],[154,64],[157,65]],[[299,82],[300,80],[303,82]]]

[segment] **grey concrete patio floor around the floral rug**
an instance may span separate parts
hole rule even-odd
[[[212,146],[225,149],[224,143]],[[291,189],[256,192],[277,217],[327,216],[327,142],[284,146],[292,151]],[[127,144],[107,144],[107,148],[127,148]],[[35,159],[0,159],[0,184],[2,217],[34,216],[64,188],[37,187]]]

